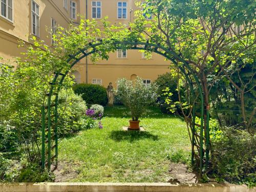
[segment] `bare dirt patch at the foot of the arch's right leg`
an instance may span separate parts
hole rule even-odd
[[[198,176],[182,163],[171,163],[169,174],[172,177],[168,180],[170,183],[198,183]]]

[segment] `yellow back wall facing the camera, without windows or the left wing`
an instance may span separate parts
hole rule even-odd
[[[83,1],[85,2],[85,1]],[[88,18],[92,19],[92,0],[88,0]],[[113,25],[119,23],[129,26],[130,21],[133,22],[135,19],[134,12],[138,10],[135,5],[135,0],[126,0],[121,2],[127,2],[127,18],[117,17],[117,4],[118,0],[101,0],[101,18],[108,16],[108,20]],[[130,14],[130,10],[132,10]],[[85,13],[84,17],[86,17]],[[98,24],[101,25],[100,19]],[[116,87],[116,81],[118,78],[125,77],[131,79],[132,75],[137,75],[142,79],[150,79],[151,82],[158,77],[160,74],[164,74],[169,71],[169,61],[165,61],[164,57],[153,53],[151,59],[142,58],[142,53],[138,50],[127,50],[127,58],[118,58],[117,52],[110,53],[108,61],[102,60],[93,65],[88,58],[88,82],[92,83],[93,79],[102,79],[102,86],[108,86],[109,82],[113,83]],[[86,59],[82,59],[81,62],[77,63],[75,70],[80,74],[80,81],[86,82]]]

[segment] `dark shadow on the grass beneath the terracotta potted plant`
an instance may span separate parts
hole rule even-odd
[[[130,142],[141,140],[141,139],[152,139],[153,141],[158,140],[157,135],[153,135],[146,131],[112,131],[110,133],[110,138],[115,141],[128,140]]]

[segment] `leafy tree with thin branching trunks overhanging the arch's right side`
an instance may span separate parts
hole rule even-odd
[[[246,115],[244,98],[248,83],[239,87],[231,75],[245,65],[252,65],[255,52],[255,2],[242,0],[180,1],[146,0],[137,2],[143,11],[137,11],[137,19],[131,24],[131,38],[148,39],[172,51],[169,55],[181,67],[188,63],[200,79],[205,105],[209,106],[211,87],[226,76],[241,95],[240,109],[243,123],[250,126],[255,110]],[[152,14],[146,19],[143,14]],[[151,27],[148,27],[151,26]],[[242,26],[242,27],[241,27]],[[241,27],[241,28],[240,28]],[[242,66],[236,65],[243,60]],[[231,64],[234,65],[231,65]],[[232,67],[231,67],[232,66]],[[255,71],[250,73],[253,79]],[[193,75],[187,73],[189,78]],[[209,78],[210,77],[210,78]],[[248,120],[249,119],[249,120]]]

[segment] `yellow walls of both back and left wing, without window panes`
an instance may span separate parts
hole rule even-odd
[[[73,0],[77,4],[77,14],[86,17],[86,0]],[[67,28],[70,23],[70,0],[68,8],[63,7],[63,0],[34,0],[39,6],[39,36],[37,38],[45,40],[46,44],[51,45],[51,35],[46,28],[51,29],[51,18],[56,24]],[[129,26],[129,22],[134,20],[134,11],[138,8],[135,6],[135,0],[126,0],[127,18],[117,18],[118,0],[101,0],[101,18],[108,16],[112,24],[119,23]],[[32,33],[31,25],[31,5],[32,0],[13,0],[13,22],[0,16],[0,57],[5,60],[14,60],[13,57],[22,57],[20,52],[22,48],[17,48],[18,39],[24,40],[30,44],[29,35]],[[130,14],[130,10],[132,10]],[[79,22],[79,16],[73,20],[74,25]],[[88,19],[92,19],[92,0],[88,0]],[[99,25],[100,19],[98,20]],[[49,31],[48,30],[48,31]],[[14,64],[15,65],[15,64]],[[164,57],[153,54],[151,59],[143,59],[142,53],[137,50],[127,50],[127,58],[118,58],[117,52],[110,53],[108,61],[102,60],[93,65],[88,58],[88,82],[92,79],[101,79],[104,87],[109,82],[113,82],[114,87],[118,78],[131,79],[132,75],[137,75],[143,79],[150,79],[152,82],[159,74],[168,72],[169,62]],[[74,67],[73,74],[77,77],[78,82],[86,82],[86,59],[82,59]]]

